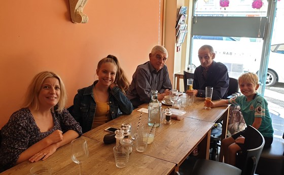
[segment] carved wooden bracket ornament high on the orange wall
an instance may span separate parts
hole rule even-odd
[[[87,23],[88,16],[83,9],[88,0],[69,0],[71,20],[74,23]]]

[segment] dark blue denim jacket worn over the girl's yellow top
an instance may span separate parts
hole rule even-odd
[[[72,116],[80,123],[83,133],[92,129],[96,112],[93,87],[97,82],[95,81],[89,87],[79,89],[74,97]],[[111,119],[115,119],[123,114],[131,114],[133,111],[132,103],[117,86],[110,90],[109,105]]]

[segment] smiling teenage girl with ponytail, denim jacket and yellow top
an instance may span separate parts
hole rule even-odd
[[[83,133],[122,114],[131,114],[133,110],[125,96],[129,83],[115,56],[101,59],[96,74],[98,80],[79,89],[74,97],[72,115],[82,126]]]

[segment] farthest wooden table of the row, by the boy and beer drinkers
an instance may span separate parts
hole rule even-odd
[[[229,106],[211,108],[210,110],[204,110],[204,98],[195,97],[194,103],[191,106],[183,108],[186,111],[185,117],[194,118],[198,120],[214,122],[223,120],[221,141],[227,136],[228,129],[228,117],[229,117]],[[223,162],[223,151],[220,152],[220,162]]]

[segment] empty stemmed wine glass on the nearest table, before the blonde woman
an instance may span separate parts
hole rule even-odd
[[[80,175],[82,174],[82,162],[89,156],[87,141],[84,138],[77,138],[71,142],[71,159],[79,164]]]

